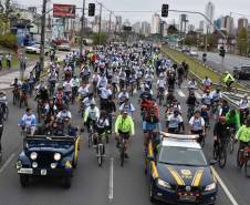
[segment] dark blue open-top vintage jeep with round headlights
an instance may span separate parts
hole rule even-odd
[[[20,183],[28,186],[32,176],[58,176],[71,186],[73,168],[77,165],[80,136],[27,136],[17,161]]]

